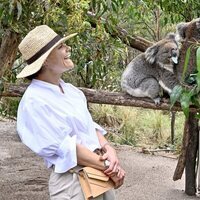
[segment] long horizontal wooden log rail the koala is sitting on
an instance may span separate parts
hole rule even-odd
[[[28,84],[4,84],[4,92],[1,94],[1,96],[20,97],[23,95],[27,86]],[[80,89],[85,94],[89,103],[134,106],[155,110],[170,110],[170,101],[166,98],[161,100],[160,105],[155,105],[154,101],[149,98],[132,97],[122,92],[108,92],[87,88]],[[179,103],[176,103],[172,110],[182,111]],[[197,112],[197,108],[190,107],[190,112]]]

